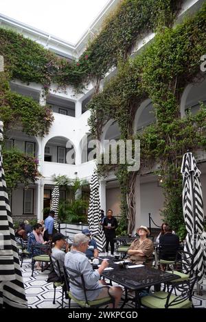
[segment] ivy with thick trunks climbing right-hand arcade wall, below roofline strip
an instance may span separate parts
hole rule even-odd
[[[100,136],[109,119],[118,121],[122,138],[139,138],[141,142],[141,169],[159,164],[165,194],[164,218],[178,231],[183,223],[182,178],[180,173],[183,153],[190,149],[205,149],[206,108],[195,116],[180,115],[180,99],[183,89],[191,82],[201,82],[201,55],[206,53],[206,5],[181,25],[164,27],[155,40],[134,60],[119,62],[118,73],[104,86],[104,90],[89,103],[91,133]],[[155,108],[157,122],[147,127],[143,134],[133,134],[133,120],[137,108],[150,98]],[[105,173],[108,166],[100,165]],[[120,182],[127,182],[125,195],[130,193],[131,174],[116,166]],[[127,177],[127,180],[126,180]]]

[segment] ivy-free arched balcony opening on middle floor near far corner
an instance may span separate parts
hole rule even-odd
[[[68,138],[55,136],[45,145],[44,160],[47,162],[75,164],[76,153]]]

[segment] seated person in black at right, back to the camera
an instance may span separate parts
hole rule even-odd
[[[161,260],[174,260],[176,258],[176,252],[179,249],[179,236],[172,234],[172,228],[169,225],[165,226],[165,234],[160,236],[159,245],[161,246]],[[160,267],[164,271],[165,266],[160,264]]]

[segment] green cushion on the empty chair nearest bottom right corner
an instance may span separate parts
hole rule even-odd
[[[155,297],[157,296],[157,297]],[[141,298],[141,304],[143,306],[146,306],[147,308],[165,308],[165,303],[167,301],[167,292],[155,292],[155,295],[147,295],[145,297]],[[161,299],[159,299],[161,297]],[[176,295],[170,296],[170,301],[172,301],[174,298],[176,298]],[[176,304],[174,306],[169,306],[169,308],[191,308],[192,302],[187,299],[183,301],[182,303]]]

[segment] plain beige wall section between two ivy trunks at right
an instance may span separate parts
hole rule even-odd
[[[161,225],[161,216],[159,210],[163,208],[163,193],[162,188],[157,186],[157,182],[148,182],[140,185],[141,196],[141,223],[137,225],[149,226],[148,213],[150,212],[153,221],[157,225]],[[155,227],[151,223],[151,227]]]

